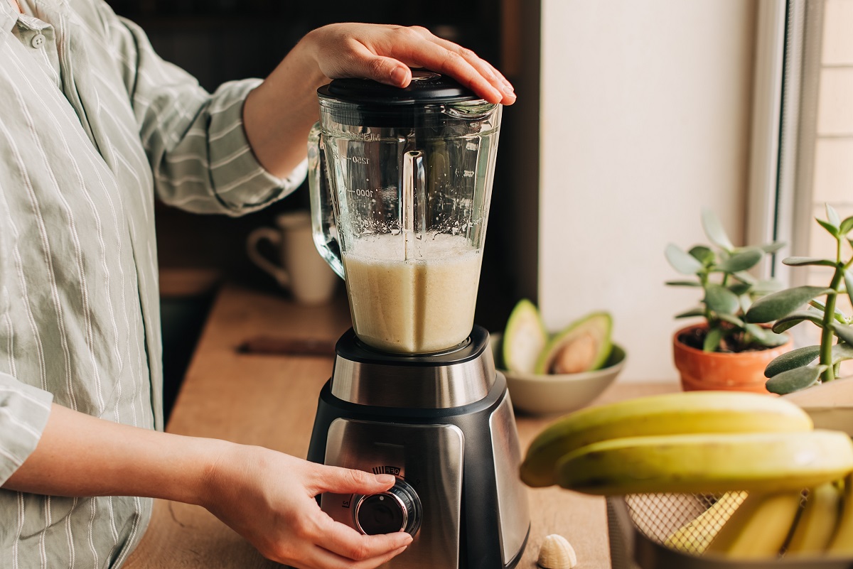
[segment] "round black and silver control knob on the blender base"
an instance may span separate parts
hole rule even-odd
[[[405,480],[379,494],[358,496],[352,510],[356,529],[368,536],[407,532],[415,535],[421,527],[421,498]]]

